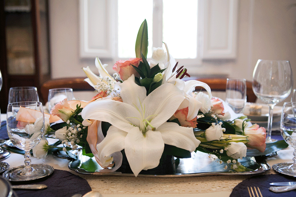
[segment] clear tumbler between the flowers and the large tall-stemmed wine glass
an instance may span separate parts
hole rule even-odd
[[[247,102],[246,79],[227,79],[226,103],[235,113],[241,113]]]

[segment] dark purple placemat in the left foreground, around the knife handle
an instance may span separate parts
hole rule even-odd
[[[80,176],[65,170],[56,170],[47,177],[35,181],[11,182],[17,184],[45,184],[44,190],[14,190],[18,197],[71,197],[74,194],[86,194],[92,189]]]

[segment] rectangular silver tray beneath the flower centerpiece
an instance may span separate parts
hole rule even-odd
[[[246,157],[239,162],[249,169],[254,171],[247,172],[229,172],[224,170],[223,164],[219,164],[213,159],[208,158],[208,154],[197,152],[191,153],[191,158],[177,159],[175,158],[175,169],[171,174],[139,174],[138,176],[153,176],[153,177],[182,177],[182,176],[203,176],[203,175],[248,175],[259,174],[270,170],[270,166],[266,163],[263,156],[258,157]],[[133,174],[125,174],[121,172],[98,172],[103,169],[95,160],[88,156],[79,155],[78,160],[71,161],[68,165],[69,169],[74,170],[81,174],[92,174],[101,176],[134,176]]]

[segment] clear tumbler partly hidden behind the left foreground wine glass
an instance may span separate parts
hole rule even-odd
[[[36,87],[13,87],[9,89],[8,103],[24,102],[24,101],[37,101],[39,96]]]

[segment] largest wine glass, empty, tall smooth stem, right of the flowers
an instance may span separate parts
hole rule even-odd
[[[289,61],[258,60],[253,72],[253,91],[269,105],[266,143],[270,143],[274,106],[286,99],[292,91],[293,75]]]

